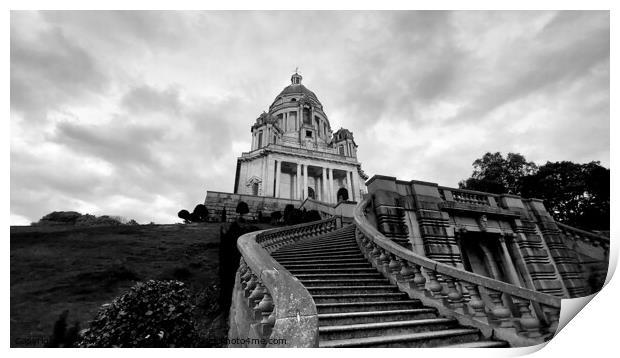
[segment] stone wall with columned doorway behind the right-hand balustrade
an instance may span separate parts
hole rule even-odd
[[[558,297],[600,288],[541,200],[385,176],[367,185],[373,224],[418,254]]]

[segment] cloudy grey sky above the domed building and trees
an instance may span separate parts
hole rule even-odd
[[[367,174],[456,186],[487,151],[609,167],[608,12],[12,12],[11,224],[177,222],[232,191],[290,82]]]

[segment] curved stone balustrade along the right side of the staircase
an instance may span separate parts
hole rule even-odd
[[[369,261],[410,297],[514,346],[539,344],[553,336],[560,315],[559,297],[418,255],[368,222],[368,204],[364,199],[355,208],[356,240]]]

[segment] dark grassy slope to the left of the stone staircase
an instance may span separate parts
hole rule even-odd
[[[205,299],[219,287],[220,225],[11,227],[11,347],[42,346],[65,310],[85,328],[101,304],[149,279],[186,282],[207,303],[201,335],[225,338],[226,313]]]

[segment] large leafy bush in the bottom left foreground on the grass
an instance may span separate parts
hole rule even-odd
[[[179,281],[141,282],[99,309],[80,347],[191,347],[194,305]]]

